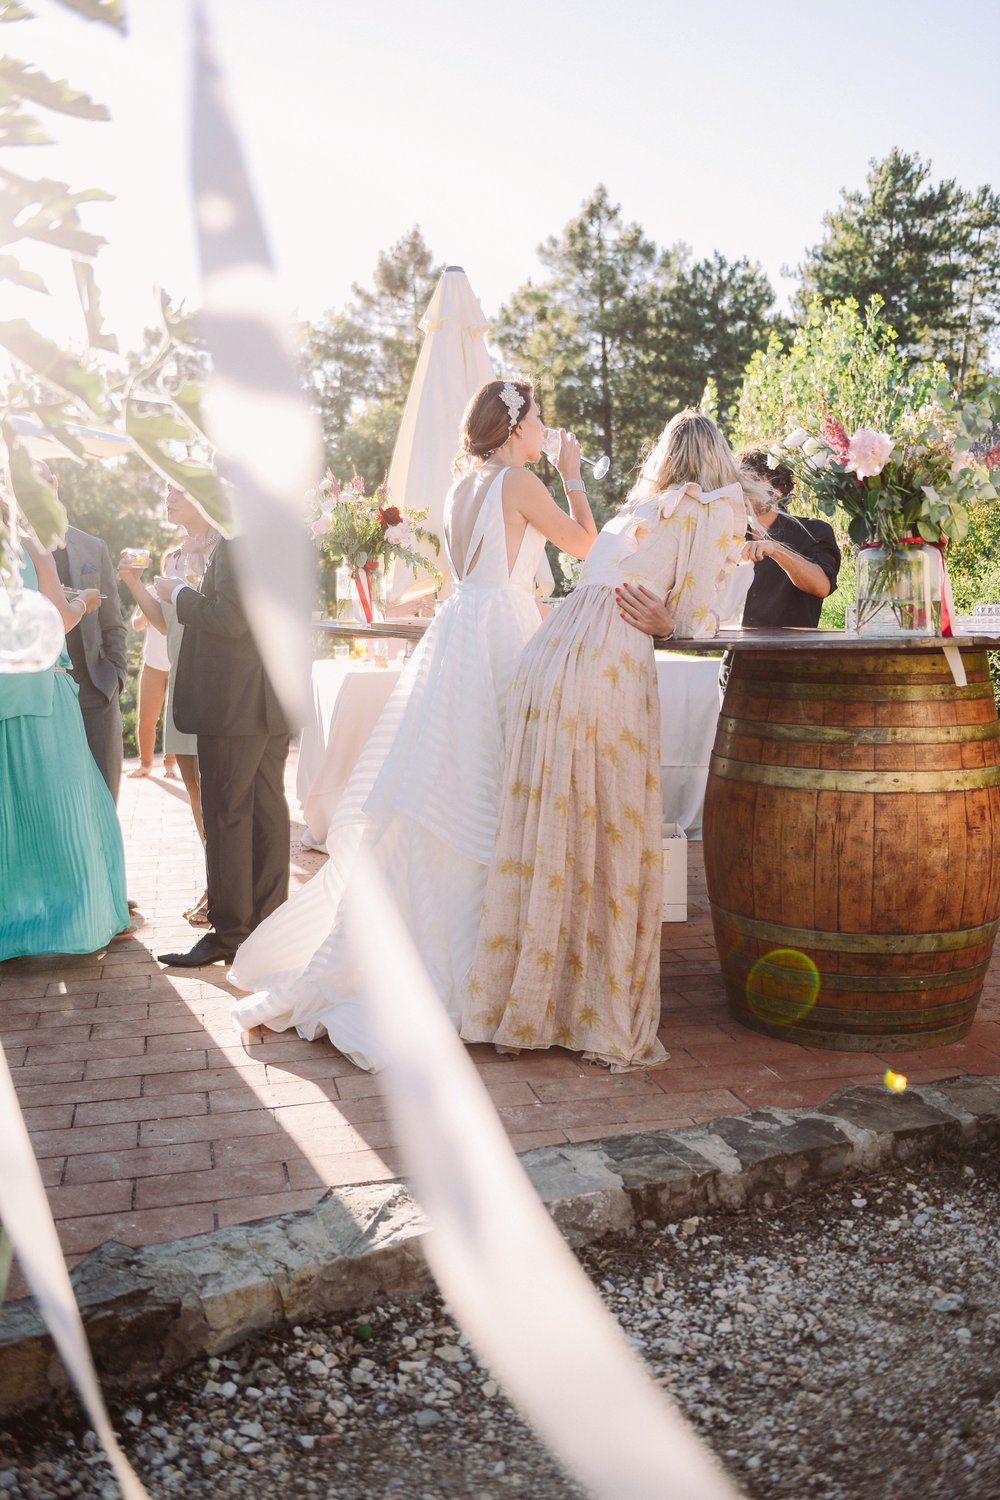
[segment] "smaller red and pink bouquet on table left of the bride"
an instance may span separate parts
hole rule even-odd
[[[312,534],[321,540],[322,554],[333,562],[343,561],[351,573],[367,624],[378,610],[378,580],[388,562],[399,558],[414,570],[436,573],[417,550],[418,542],[435,549],[439,544],[438,537],[420,525],[427,512],[391,506],[385,482],[373,495],[366,495],[360,474],[342,486],[327,470],[310,500],[318,507]]]

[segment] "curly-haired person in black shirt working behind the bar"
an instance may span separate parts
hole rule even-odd
[[[744,626],[805,626],[820,622],[823,600],[837,588],[840,548],[834,528],[811,516],[789,516],[778,507],[792,492],[795,476],[784,464],[768,468],[763,448],[745,448],[739,462],[766,484],[774,504],[757,512],[766,532],[751,532],[744,556],[754,564],[754,580],[744,606]]]

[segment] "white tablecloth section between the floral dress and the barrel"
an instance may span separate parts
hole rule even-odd
[[[664,822],[702,837],[708,762],[718,722],[717,657],[657,651],[660,783]]]

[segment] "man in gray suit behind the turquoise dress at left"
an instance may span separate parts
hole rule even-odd
[[[39,472],[58,489],[55,476],[45,464],[39,464]],[[66,544],[55,548],[52,555],[63,584],[69,588],[97,588],[105,596],[100,609],[84,615],[78,628],[69,633],[66,650],[73,663],[72,675],[79,684],[87,742],[117,802],[123,759],[118,694],[129,680],[127,628],[121,618],[118,580],[106,542],[76,526],[66,528]]]

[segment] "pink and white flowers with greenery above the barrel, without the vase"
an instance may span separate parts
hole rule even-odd
[[[856,546],[961,542],[969,506],[997,498],[1000,444],[981,452],[978,440],[999,416],[1000,381],[966,404],[942,386],[921,406],[903,408],[892,432],[847,432],[828,414],[816,430],[801,426],[775,442],[768,462],[786,464],[825,514],[841,512]]]

